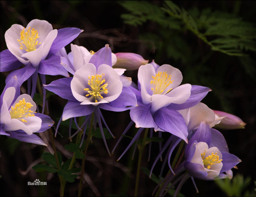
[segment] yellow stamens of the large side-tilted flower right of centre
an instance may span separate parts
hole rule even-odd
[[[158,72],[156,73],[156,76],[154,77],[152,75],[152,79],[150,81],[151,84],[151,90],[153,91],[153,94],[166,94],[168,93],[171,89],[165,91],[165,89],[173,83],[174,80],[171,80],[171,75],[167,75],[166,72]],[[164,92],[165,91],[165,92]]]

